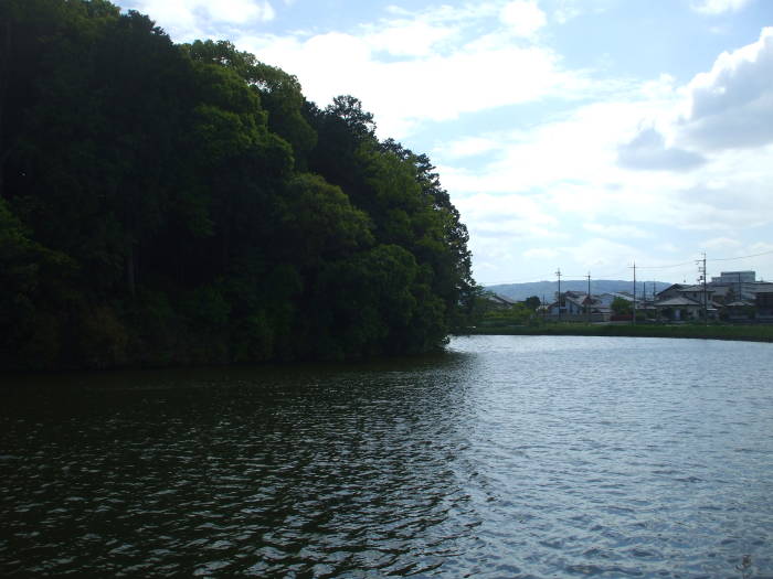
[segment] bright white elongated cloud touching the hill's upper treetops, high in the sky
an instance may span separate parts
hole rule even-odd
[[[388,36],[329,33],[310,37],[243,36],[236,44],[269,64],[295,74],[304,93],[320,106],[352,94],[375,115],[379,135],[404,138],[417,122],[453,120],[465,112],[571,98],[586,88],[583,74],[563,71],[560,58],[540,46],[511,41],[454,49],[441,54],[432,45],[413,45],[412,58],[381,61],[377,47],[391,45],[402,30],[415,35],[422,23],[394,23]],[[445,30],[437,37],[456,33]],[[405,87],[395,90],[395,87]]]

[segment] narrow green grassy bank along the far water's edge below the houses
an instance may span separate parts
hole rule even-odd
[[[773,325],[587,324],[548,323],[499,328],[469,328],[457,335],[618,335],[634,337],[698,337],[773,342]]]

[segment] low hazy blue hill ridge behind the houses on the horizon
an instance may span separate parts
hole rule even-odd
[[[637,281],[636,296],[642,296],[646,291],[647,296],[653,294],[653,283],[655,291],[661,291],[671,283],[666,281]],[[528,283],[499,283],[496,286],[486,286],[488,291],[493,291],[502,298],[508,298],[515,301],[522,301],[530,296],[537,296],[540,300],[544,297],[546,301],[553,300],[555,292],[559,289],[557,281],[530,281]],[[561,281],[561,291],[587,291],[587,281],[582,279],[571,279]],[[591,279],[591,293],[613,293],[617,291],[626,291],[633,293],[633,281],[622,279]]]

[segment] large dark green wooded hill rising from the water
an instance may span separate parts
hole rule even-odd
[[[427,157],[229,42],[0,2],[0,368],[441,344],[473,290]]]

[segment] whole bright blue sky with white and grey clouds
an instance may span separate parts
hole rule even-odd
[[[479,283],[773,280],[773,0],[116,3],[358,97],[437,167]]]

